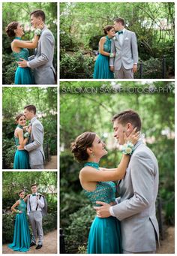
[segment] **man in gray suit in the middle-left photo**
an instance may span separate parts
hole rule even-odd
[[[18,149],[26,149],[29,154],[31,169],[43,169],[45,159],[43,152],[43,125],[36,118],[36,107],[28,105],[24,107],[24,116],[30,120],[31,134],[26,146],[18,146]]]

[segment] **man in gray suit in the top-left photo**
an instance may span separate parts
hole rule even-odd
[[[31,26],[34,29],[45,23],[45,14],[41,10],[33,11],[30,17]],[[25,59],[21,59],[23,61],[18,62],[21,68],[34,68],[34,81],[36,84],[55,84],[55,69],[52,65],[54,43],[55,39],[52,32],[44,25],[34,56],[29,57],[28,62]]]

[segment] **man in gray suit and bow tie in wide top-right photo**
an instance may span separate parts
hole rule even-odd
[[[137,71],[138,47],[135,33],[124,29],[124,26],[124,19],[115,19],[114,28],[118,32],[111,43],[115,57],[110,58],[110,70],[115,72],[115,78],[132,79]]]

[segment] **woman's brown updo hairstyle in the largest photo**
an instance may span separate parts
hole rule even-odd
[[[86,131],[71,143],[71,152],[74,154],[74,158],[77,161],[84,162],[88,160],[89,154],[87,149],[92,146],[95,137],[95,132]]]

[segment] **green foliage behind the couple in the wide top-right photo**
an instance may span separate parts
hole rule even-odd
[[[163,55],[166,55],[166,78],[174,77],[175,8],[172,2],[61,3],[61,61],[66,59],[64,53],[68,54],[69,51],[72,51],[72,58],[74,58],[75,54],[77,55],[78,48],[81,52],[89,50],[93,56],[93,63],[90,65],[89,71],[89,74],[92,74],[94,70],[93,53],[94,50],[98,50],[98,42],[103,36],[103,28],[113,24],[116,17],[124,17],[127,29],[136,32],[139,59],[145,65],[145,76],[143,78],[154,78],[156,59],[162,59]],[[152,59],[155,59],[155,61],[152,62]],[[75,65],[71,64],[69,71],[68,65],[66,63],[63,65],[62,78],[92,78],[86,75],[80,77],[77,74],[79,73],[76,71],[77,68],[82,67],[82,61],[80,62],[80,59],[78,61],[78,63],[75,62]],[[156,69],[157,67],[155,67]],[[161,73],[158,72],[157,75],[161,78]]]

